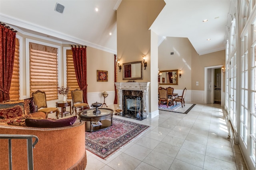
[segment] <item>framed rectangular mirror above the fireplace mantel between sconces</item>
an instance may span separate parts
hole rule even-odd
[[[143,61],[123,63],[123,80],[143,79]]]

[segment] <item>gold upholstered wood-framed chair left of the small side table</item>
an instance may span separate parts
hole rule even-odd
[[[34,97],[34,104],[37,106],[38,111],[42,111],[46,114],[46,119],[48,118],[48,114],[55,113],[57,119],[59,118],[59,109],[56,107],[47,107],[46,102],[46,94],[45,92],[42,92],[40,90],[37,90],[36,92],[32,93],[32,97]],[[42,109],[40,109],[42,108]]]

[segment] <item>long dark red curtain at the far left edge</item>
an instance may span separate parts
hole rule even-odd
[[[16,32],[0,25],[0,102],[10,100]]]

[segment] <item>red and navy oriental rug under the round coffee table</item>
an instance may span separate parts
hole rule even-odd
[[[94,132],[85,132],[86,150],[102,159],[107,158],[149,126],[113,117],[112,126]]]

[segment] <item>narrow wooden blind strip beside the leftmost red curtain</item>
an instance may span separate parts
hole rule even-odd
[[[12,81],[10,88],[10,100],[20,99],[20,43],[19,39],[16,38],[15,42],[15,55],[14,55],[14,65],[12,72]]]

